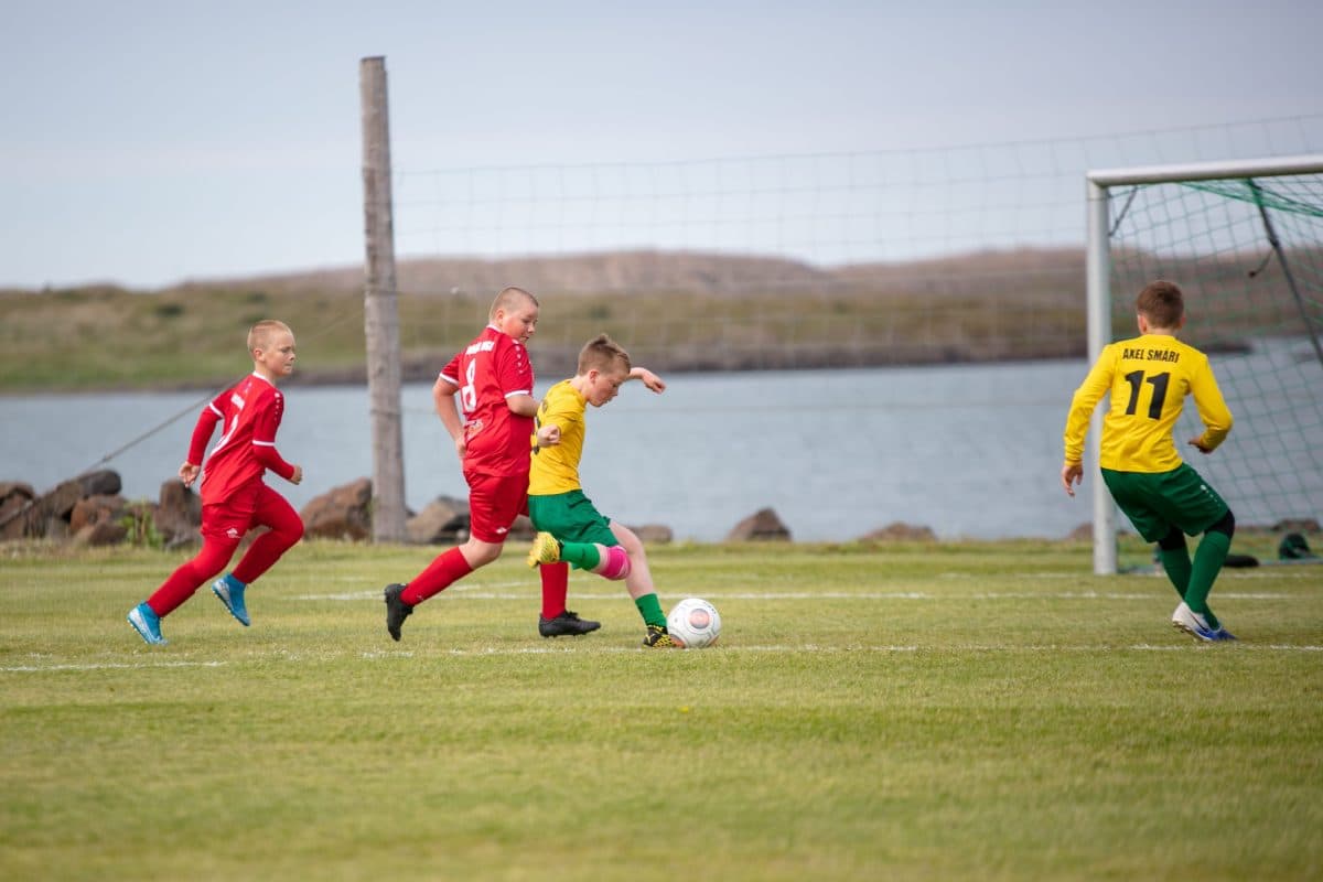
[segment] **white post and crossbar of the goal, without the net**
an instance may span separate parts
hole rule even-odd
[[[1088,286],[1088,323],[1089,323],[1089,361],[1097,361],[1103,346],[1113,341],[1111,313],[1113,313],[1113,254],[1111,234],[1114,220],[1111,217],[1111,197],[1115,188],[1142,186],[1155,184],[1187,184],[1213,180],[1242,180],[1269,179],[1282,176],[1302,176],[1323,173],[1323,155],[1293,156],[1263,160],[1225,161],[1225,163],[1197,163],[1185,165],[1160,165],[1140,168],[1121,168],[1091,171],[1086,175],[1088,192],[1088,251],[1086,251],[1086,286]],[[1122,212],[1125,208],[1122,208]],[[1273,233],[1271,222],[1262,204],[1258,206],[1262,213],[1265,238],[1259,242],[1262,249],[1269,245],[1277,251],[1282,261],[1282,270],[1286,282],[1294,288],[1290,279],[1290,270],[1279,250]],[[1323,245],[1323,242],[1315,243]],[[1250,274],[1253,275],[1253,272]],[[1179,282],[1179,279],[1177,279]],[[1130,292],[1132,296],[1134,292]],[[1297,292],[1297,300],[1299,294]],[[1315,304],[1316,305],[1316,304]],[[1319,340],[1312,331],[1311,320],[1303,315],[1307,331],[1312,340],[1315,352],[1319,352]],[[1320,354],[1323,360],[1323,354]],[[1093,465],[1093,565],[1094,573],[1099,575],[1117,573],[1117,509],[1102,484],[1098,467],[1098,438],[1101,431],[1102,411],[1094,414],[1094,421],[1089,438],[1088,458]],[[1233,502],[1234,509],[1234,502]]]

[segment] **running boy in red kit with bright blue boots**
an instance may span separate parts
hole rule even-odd
[[[303,480],[303,468],[284,461],[275,450],[275,432],[284,415],[284,397],[275,385],[294,372],[294,332],[283,321],[258,321],[249,331],[247,346],[253,373],[202,409],[188,459],[179,467],[180,480],[191,485],[202,472],[202,454],[216,423],[222,423],[202,475],[202,550],[128,612],[128,624],[149,644],[165,643],[160,620],[225,569],[243,534],[267,526],[270,530],[249,546],[238,566],[212,584],[230,615],[247,627],[243,590],[303,537],[298,512],[262,480],[266,469],[291,484]]]

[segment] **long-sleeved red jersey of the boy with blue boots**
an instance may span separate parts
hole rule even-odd
[[[225,502],[245,484],[262,480],[267,468],[280,477],[294,477],[294,465],[275,450],[275,430],[283,415],[284,395],[257,373],[238,381],[202,409],[188,461],[201,461],[216,423],[224,427],[202,464],[204,505]]]

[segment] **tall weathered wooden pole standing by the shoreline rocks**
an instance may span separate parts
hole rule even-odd
[[[390,202],[390,119],[386,60],[359,62],[363,107],[363,213],[366,264],[363,319],[372,411],[372,538],[405,541],[405,456],[400,417],[400,311]]]

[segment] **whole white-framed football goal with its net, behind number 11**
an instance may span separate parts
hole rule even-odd
[[[1132,321],[1146,282],[1179,283],[1192,295],[1187,337],[1217,353],[1215,373],[1237,418],[1228,444],[1197,467],[1240,524],[1318,517],[1323,155],[1091,171],[1086,196],[1090,364],[1114,337],[1134,333],[1114,335],[1113,325]],[[1088,454],[1093,559],[1094,573],[1114,574],[1118,518],[1098,465],[1101,421],[1099,409]],[[1197,415],[1184,414],[1177,439],[1196,427]]]

